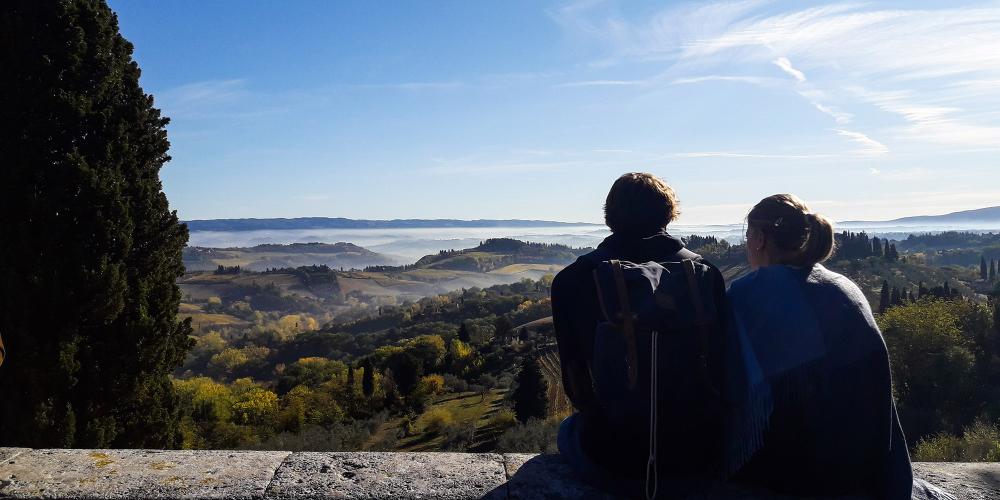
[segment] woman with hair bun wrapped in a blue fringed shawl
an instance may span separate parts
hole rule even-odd
[[[730,422],[733,480],[800,496],[910,498],[913,474],[871,307],[821,264],[829,220],[798,197],[764,198],[746,220],[751,272],[729,289],[751,375]],[[920,484],[920,483],[918,483]]]

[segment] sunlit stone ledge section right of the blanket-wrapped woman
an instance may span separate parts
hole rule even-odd
[[[913,473],[962,500],[1000,499],[997,463],[920,462]]]

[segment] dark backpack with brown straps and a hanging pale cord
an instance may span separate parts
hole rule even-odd
[[[721,367],[709,366],[709,357],[710,344],[724,332],[723,305],[716,303],[721,278],[687,249],[669,262],[608,257],[602,250],[586,256],[597,263],[593,277],[603,317],[594,335],[591,380],[620,438],[648,441],[646,496],[653,498],[658,471],[704,476],[717,465],[711,443],[719,436],[721,398],[712,369]],[[669,445],[664,460],[661,443]]]

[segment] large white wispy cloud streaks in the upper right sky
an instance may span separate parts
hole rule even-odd
[[[802,96],[838,125],[874,105],[903,120],[879,130],[899,141],[1000,144],[1000,113],[989,112],[1000,108],[1000,3],[945,5],[835,3],[781,11],[766,0],[712,2],[629,19],[606,3],[588,2],[556,17],[606,44],[606,66],[666,63],[683,73],[772,65],[793,78],[792,91],[833,91],[824,98]],[[722,79],[675,74],[673,82]],[[850,87],[866,90],[852,94]],[[878,123],[885,127],[887,120]],[[885,151],[884,145],[865,147]]]

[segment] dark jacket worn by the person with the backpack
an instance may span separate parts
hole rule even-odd
[[[684,244],[665,232],[646,238],[613,234],[598,248],[618,260],[666,262],[680,260],[677,254]],[[636,429],[615,429],[608,424],[592,387],[590,364],[594,356],[594,336],[597,324],[602,321],[593,278],[596,267],[597,262],[582,257],[563,269],[552,282],[552,316],[559,343],[563,387],[583,420],[581,440],[584,452],[611,472],[625,477],[641,476],[645,470],[648,444],[627,439],[626,436]],[[725,285],[717,270],[716,275],[717,300],[724,304]],[[715,337],[711,339],[709,364],[713,368],[713,382],[720,384],[723,380],[721,370],[724,369],[721,362],[723,339],[722,335]],[[646,424],[637,422],[637,429],[645,430],[644,426]],[[699,446],[704,449],[714,449],[720,433],[711,429],[705,434],[708,435],[691,438],[698,440]],[[662,453],[670,453],[670,450]]]

